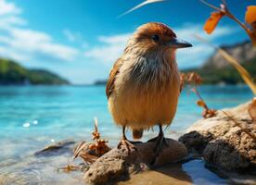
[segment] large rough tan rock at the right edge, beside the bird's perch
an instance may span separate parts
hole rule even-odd
[[[249,116],[250,103],[224,109],[216,117],[200,119],[179,141],[192,154],[200,154],[207,165],[227,171],[241,171],[256,166],[256,129]]]

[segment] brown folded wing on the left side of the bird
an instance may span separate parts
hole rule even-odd
[[[119,73],[119,69],[120,69],[121,65],[122,65],[122,59],[119,58],[115,62],[113,68],[110,71],[109,80],[108,80],[107,86],[106,86],[106,95],[107,95],[108,99],[109,99],[110,94],[115,89],[115,80],[116,80],[117,74]]]

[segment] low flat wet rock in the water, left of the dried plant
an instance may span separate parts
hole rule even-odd
[[[37,151],[34,153],[35,156],[52,156],[60,155],[65,153],[72,153],[75,142],[72,140],[65,140],[57,142],[55,144],[46,146],[43,150]]]

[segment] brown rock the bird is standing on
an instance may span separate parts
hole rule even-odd
[[[167,139],[168,146],[161,152],[156,166],[175,163],[187,156],[186,146],[172,139]],[[136,143],[137,151],[128,151],[122,146],[99,157],[85,172],[89,184],[112,184],[119,180],[129,179],[132,174],[151,168],[155,142]]]

